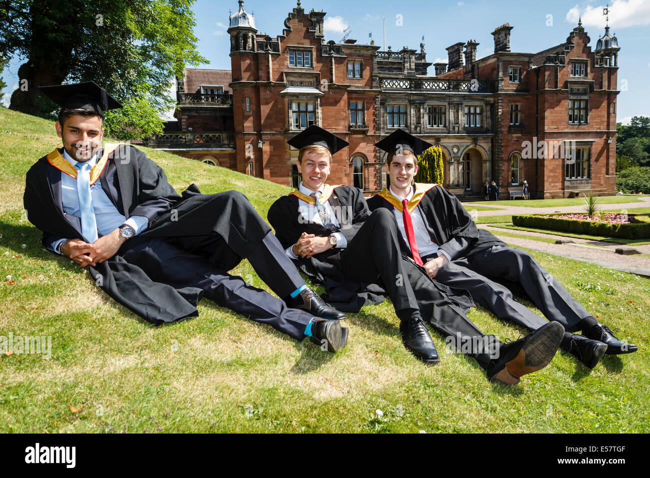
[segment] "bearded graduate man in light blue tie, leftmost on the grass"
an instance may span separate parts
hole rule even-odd
[[[103,111],[121,107],[94,82],[44,86],[61,105],[63,148],[27,172],[27,218],[43,245],[80,265],[110,297],[159,325],[196,317],[205,295],[330,351],[347,336],[344,315],[311,291],[241,193],[175,193],[162,169],[133,146],[100,147]],[[242,258],[281,298],[227,274]]]

